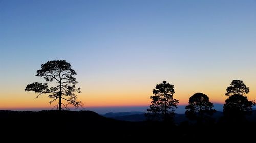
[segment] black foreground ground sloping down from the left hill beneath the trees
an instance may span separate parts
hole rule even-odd
[[[1,138],[8,142],[15,139],[34,141],[33,137],[44,141],[80,141],[97,140],[161,141],[219,139],[249,139],[254,135],[254,122],[241,124],[190,125],[187,122],[179,126],[163,122],[127,122],[106,118],[92,111],[0,111]],[[12,137],[9,137],[12,136]],[[139,140],[138,140],[139,139]],[[88,141],[91,140],[91,141]],[[93,140],[93,141],[92,141]]]

